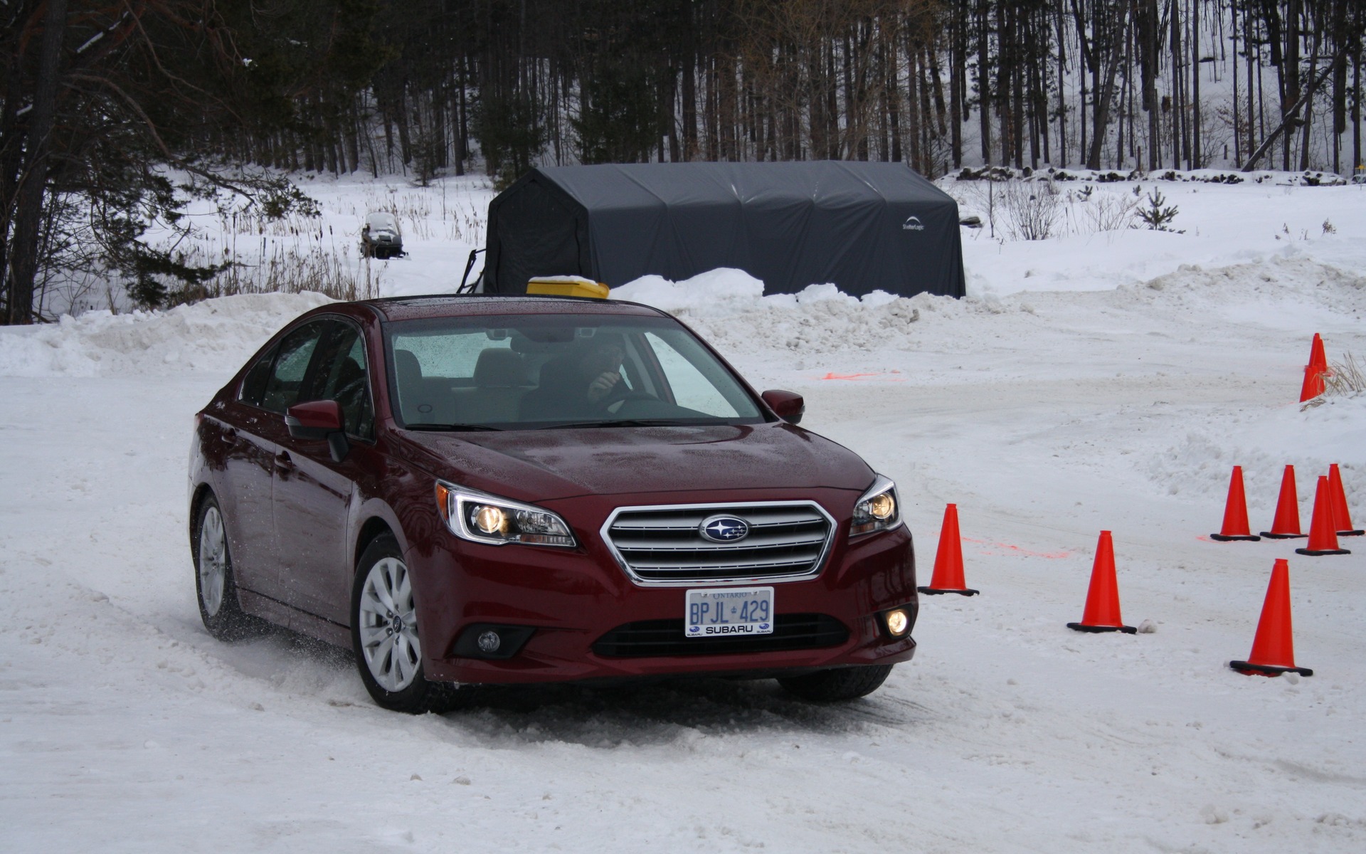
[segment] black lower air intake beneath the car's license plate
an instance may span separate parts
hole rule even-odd
[[[617,626],[593,644],[604,659],[714,656],[735,652],[785,652],[839,646],[850,638],[844,623],[826,614],[779,614],[773,634],[688,638],[683,620],[642,620]]]

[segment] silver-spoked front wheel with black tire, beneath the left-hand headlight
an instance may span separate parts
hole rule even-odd
[[[456,687],[422,672],[413,578],[393,537],[376,538],[361,555],[351,589],[351,648],[377,705],[408,715],[455,708]]]

